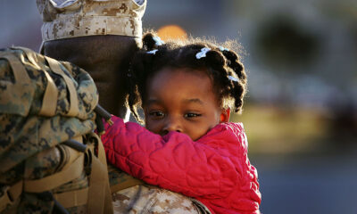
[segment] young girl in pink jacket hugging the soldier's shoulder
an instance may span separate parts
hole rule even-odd
[[[147,34],[129,70],[129,107],[145,128],[113,117],[107,159],[150,185],[202,202],[212,213],[260,213],[257,171],[241,123],[245,70],[237,53],[208,43],[163,44]]]

